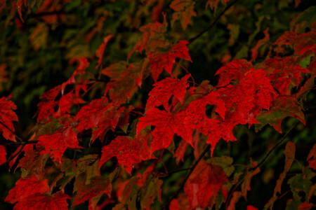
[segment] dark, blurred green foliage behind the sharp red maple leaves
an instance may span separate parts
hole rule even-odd
[[[169,24],[167,38],[176,44],[178,40],[190,40],[209,27],[226,7],[224,1],[216,3],[217,9],[206,6],[207,1],[192,1],[195,2],[196,15],[192,16],[190,23],[183,30],[183,25],[178,20],[171,27],[173,13],[173,9],[169,7],[171,1],[30,0],[20,6],[21,15],[18,14],[16,6],[19,2],[6,1],[6,7],[3,9],[0,4],[0,11],[2,10],[0,14],[0,91],[1,97],[13,93],[13,102],[18,106],[16,113],[19,117],[19,122],[15,123],[15,130],[22,139],[29,138],[29,131],[37,123],[33,116],[37,113],[39,97],[70,78],[77,66],[77,63],[73,61],[74,57],[86,57],[91,62],[87,70],[98,76],[98,69],[94,68],[98,63],[95,52],[100,43],[103,43],[105,36],[112,34],[113,38],[105,48],[103,68],[114,62],[125,61],[143,34],[139,30],[140,27],[151,22],[163,22],[162,12],[166,13],[166,21]],[[291,0],[237,1],[224,15],[220,16],[214,27],[188,45],[192,62],[180,62],[180,64],[192,74],[195,83],[210,80],[211,85],[216,85],[218,77],[215,73],[220,66],[232,59],[250,60],[251,49],[265,37],[265,29],[268,28],[270,39],[259,48],[258,57],[254,61],[255,65],[265,59],[269,46],[284,34],[284,31],[308,32],[312,22],[316,22],[315,14],[316,5],[312,0],[302,0],[301,3]],[[142,55],[133,54],[129,61],[138,61],[140,57]],[[173,71],[178,71],[181,78],[183,74],[180,74],[180,65],[174,68]],[[164,71],[160,79],[167,75]],[[143,81],[142,89],[132,97],[131,104],[145,106],[153,83],[154,80],[151,77]],[[99,84],[99,87],[86,94],[84,99],[91,101],[102,97],[101,90],[104,88],[104,84]],[[308,165],[306,158],[316,139],[315,101],[315,91],[312,90],[303,102],[306,126],[298,124],[287,138],[296,144],[298,161],[294,161],[294,165],[288,172],[291,175],[285,178],[284,183],[287,183],[294,174],[300,173],[300,164]],[[294,123],[296,119],[287,118],[282,123],[282,129],[286,131]],[[228,155],[237,165],[249,165],[251,160],[260,161],[282,137],[282,134],[268,126],[256,133],[254,127],[248,130],[245,125],[240,125],[235,128],[234,134],[239,141],[229,143],[219,141],[213,155],[216,157]],[[89,139],[89,137],[86,138]],[[179,139],[175,139],[176,146],[180,142]],[[5,142],[5,139],[1,138],[0,141]],[[265,160],[261,166],[261,173],[254,176],[251,181],[251,191],[248,193],[247,201],[240,200],[237,203],[237,209],[245,209],[246,204],[252,204],[261,209],[272,197],[275,183],[284,169],[284,147],[285,141]],[[9,146],[7,153],[13,153],[15,148],[15,146]],[[93,148],[87,149],[86,153],[89,153],[88,150],[92,152]],[[185,162],[181,164],[182,168],[192,165],[193,156],[190,155],[192,153],[190,150],[190,148],[187,150]],[[70,152],[67,155],[73,154]],[[162,161],[169,169],[181,168],[176,165],[169,152],[166,152]],[[147,165],[147,163],[144,164]],[[111,161],[107,162],[107,166],[110,167],[110,165]],[[236,167],[237,172],[242,169],[244,168]],[[164,172],[162,163],[157,165],[156,171]],[[166,202],[169,195],[173,195],[177,189],[178,180],[185,176],[184,173],[171,174],[163,179],[163,202]],[[20,169],[13,173],[8,172],[7,165],[1,166],[0,209],[12,207],[11,204],[4,202],[4,198],[8,195],[8,190],[15,186],[19,177]],[[284,188],[282,193],[289,190],[287,184],[284,184],[282,188]],[[66,190],[72,191],[67,188]],[[290,198],[291,193],[284,194],[275,202],[275,209],[284,209]],[[81,204],[74,209],[86,209],[87,204],[84,205]],[[152,207],[159,208],[161,204],[155,202]]]

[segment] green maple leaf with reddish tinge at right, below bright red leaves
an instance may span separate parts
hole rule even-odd
[[[269,111],[258,113],[256,119],[261,124],[256,124],[256,131],[267,124],[273,126],[277,132],[282,134],[281,123],[284,118],[294,117],[305,125],[302,107],[294,96],[278,96],[271,105]]]

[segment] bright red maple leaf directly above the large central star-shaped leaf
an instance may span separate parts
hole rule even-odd
[[[164,106],[164,109],[169,111],[169,99],[173,95],[178,99],[178,101],[183,104],[183,99],[185,97],[185,90],[189,86],[187,84],[187,79],[190,77],[187,74],[181,80],[176,78],[164,78],[157,83],[154,83],[154,88],[149,92],[149,98],[147,99],[147,104],[145,111],[157,107],[160,105]]]

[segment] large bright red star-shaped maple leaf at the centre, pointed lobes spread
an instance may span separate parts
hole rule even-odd
[[[146,112],[145,117],[141,117],[137,124],[136,135],[140,133],[143,128],[148,125],[154,125],[152,132],[152,144],[150,146],[150,153],[162,148],[167,148],[174,134],[178,134],[185,139],[189,144],[192,144],[192,136],[188,134],[183,125],[184,112],[176,113],[172,116],[171,113],[152,108]]]

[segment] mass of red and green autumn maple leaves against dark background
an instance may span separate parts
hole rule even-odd
[[[131,3],[106,5],[122,2]],[[249,56],[242,56],[242,50],[235,59],[223,55],[222,66],[212,75],[216,83],[208,79],[211,71],[202,71],[204,79],[196,82],[190,47],[225,13],[242,13],[242,4],[232,0],[142,4],[151,21],[136,27],[140,36],[130,42],[125,59],[107,59],[107,49],[118,39],[108,31],[95,55],[70,53],[67,65],[76,68],[67,80],[58,80],[59,85],[41,94],[27,138],[15,130],[20,122],[13,96],[19,92],[0,98],[0,134],[5,139],[0,162],[20,171],[4,201],[16,210],[273,209],[289,195],[282,207],[315,207],[316,144],[309,143],[313,146],[300,163],[296,144],[288,137],[296,126],[308,127],[307,111],[312,109],[308,97],[314,94],[316,77],[316,22],[296,22],[296,15],[291,30],[275,40],[270,40],[267,27],[247,48]],[[295,1],[292,7],[299,5]],[[17,31],[26,30],[32,17],[41,17],[29,36],[37,51],[47,44],[44,36],[58,27],[56,22],[72,21],[76,6],[74,1],[0,1],[0,13],[14,17],[6,23],[12,25],[14,19]],[[200,33],[191,31],[194,36],[183,35],[198,25],[201,11],[211,12],[211,25],[201,27]],[[103,22],[109,14],[103,14],[82,41],[93,42],[106,27]],[[133,24],[142,21],[137,15]],[[228,42],[234,45],[237,37],[233,29],[230,32]],[[246,141],[238,133],[250,137],[267,127],[279,133],[275,133],[279,140],[262,148],[261,156],[241,163],[236,155],[220,153],[223,145]],[[264,204],[249,200],[251,179],[267,169],[263,167],[267,158],[283,142],[287,142],[280,152],[284,168],[276,174],[274,191],[266,193],[270,199]],[[289,174],[295,161],[300,172]],[[242,204],[237,206],[238,202]]]

